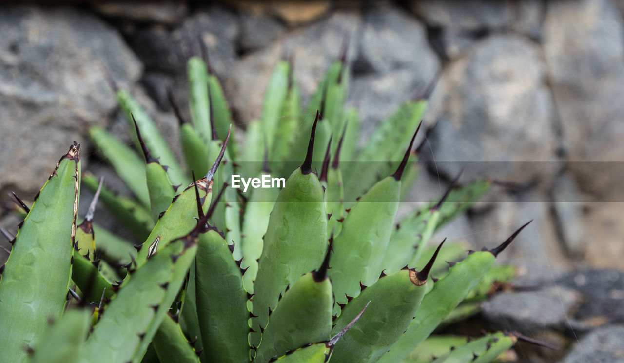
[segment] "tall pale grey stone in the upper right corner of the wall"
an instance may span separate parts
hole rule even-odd
[[[607,0],[548,2],[544,55],[568,169],[583,192],[624,200],[624,36]],[[618,167],[619,166],[619,167]]]

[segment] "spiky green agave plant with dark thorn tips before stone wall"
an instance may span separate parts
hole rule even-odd
[[[3,230],[12,243],[0,281],[7,362],[416,362],[412,351],[431,347],[427,337],[466,296],[478,299],[504,275],[492,269],[495,257],[528,223],[450,268],[441,260],[461,247],[427,247],[487,179],[456,188],[458,176],[438,202],[396,220],[416,175],[411,150],[425,99],[404,104],[358,150],[357,114],[343,107],[343,59],[303,112],[281,61],[261,120],[237,145],[210,67],[193,57],[188,75],[191,122],[172,102],[187,172],[119,90],[142,156],[99,127],[89,134],[134,197],[81,176],[73,144],[32,207],[22,203],[17,236]],[[312,110],[316,117],[300,116]],[[286,171],[281,189],[228,186],[233,175]],[[82,183],[97,192],[77,224]],[[94,224],[98,196],[139,243]],[[489,362],[519,338],[437,342],[436,362]]]

